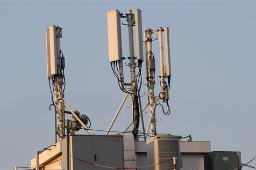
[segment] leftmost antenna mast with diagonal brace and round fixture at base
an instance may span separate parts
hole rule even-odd
[[[47,56],[47,76],[49,79],[49,85],[51,88],[51,80],[53,89],[52,93],[52,105],[55,106],[55,111],[57,114],[58,125],[56,127],[55,123],[55,142],[56,135],[59,136],[59,140],[65,137],[65,113],[71,114],[73,117],[73,123],[71,124],[73,131],[78,131],[83,127],[87,130],[90,135],[93,133],[87,127],[89,121],[88,116],[79,115],[79,112],[73,111],[63,100],[64,91],[66,86],[65,80],[65,58],[60,48],[60,39],[62,38],[62,28],[59,26],[50,26],[46,29],[46,56]],[[53,99],[54,93],[54,99]],[[50,105],[50,106],[52,106]],[[65,107],[69,110],[65,111]],[[56,118],[55,118],[56,122]]]

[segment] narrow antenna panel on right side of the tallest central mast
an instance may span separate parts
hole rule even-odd
[[[139,9],[134,10],[135,16],[135,29],[136,29],[136,52],[137,60],[143,61],[143,33],[141,23],[141,11]]]

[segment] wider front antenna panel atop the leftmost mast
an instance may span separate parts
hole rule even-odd
[[[55,25],[49,27],[49,48],[51,58],[51,75],[59,75],[60,71],[60,40],[56,38]]]

